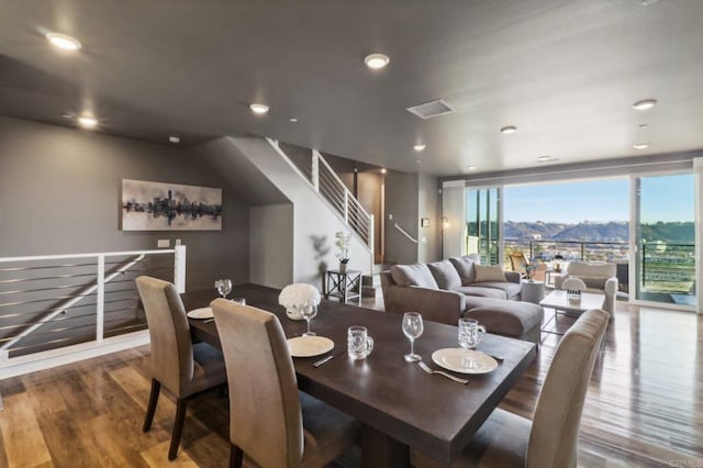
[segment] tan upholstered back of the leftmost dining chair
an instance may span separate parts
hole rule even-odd
[[[188,316],[176,287],[141,276],[136,280],[152,341],[152,377],[182,397],[193,378],[193,348]]]

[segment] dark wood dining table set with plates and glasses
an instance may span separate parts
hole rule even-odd
[[[275,313],[287,337],[305,332],[304,321],[292,321],[278,304],[279,290],[256,285],[235,287],[234,296],[247,305]],[[207,307],[214,290],[182,294],[187,310]],[[220,346],[214,322],[190,319],[194,339]],[[293,358],[299,388],[350,414],[362,423],[364,466],[408,466],[409,447],[440,463],[449,463],[471,439],[505,393],[536,357],[528,342],[487,334],[479,350],[501,355],[498,368],[483,375],[460,375],[468,385],[425,374],[403,355],[410,342],[401,331],[402,315],[323,300],[312,320],[312,331],[334,341],[330,353],[346,349],[347,327],[364,325],[373,337],[373,352],[362,360],[346,354],[321,367],[323,356]],[[415,353],[431,367],[432,353],[457,347],[457,327],[425,321]]]

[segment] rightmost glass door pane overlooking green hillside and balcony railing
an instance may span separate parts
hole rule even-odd
[[[640,177],[634,183],[636,299],[695,307],[693,175]]]

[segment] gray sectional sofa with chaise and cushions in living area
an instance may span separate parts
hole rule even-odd
[[[415,311],[450,325],[470,316],[490,333],[539,343],[544,311],[520,301],[520,274],[482,266],[473,256],[393,265],[381,272],[381,288],[387,312]]]

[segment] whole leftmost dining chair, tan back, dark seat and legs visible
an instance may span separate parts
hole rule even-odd
[[[164,386],[176,397],[176,420],[168,449],[168,459],[172,460],[178,454],[189,398],[226,381],[224,358],[205,343],[192,344],[186,310],[172,283],[141,276],[136,286],[152,342],[152,393],[143,431],[152,428]]]

